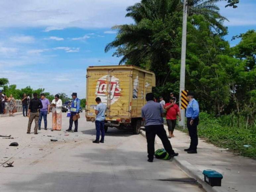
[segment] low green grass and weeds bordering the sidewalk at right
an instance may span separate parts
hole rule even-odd
[[[178,128],[187,132],[187,129]],[[227,126],[220,118],[200,113],[198,136],[221,148],[256,159],[256,127]]]

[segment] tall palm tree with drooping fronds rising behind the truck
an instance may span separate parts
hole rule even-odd
[[[226,30],[225,19],[214,4],[218,0],[188,0],[189,16],[200,14],[216,32]],[[133,24],[116,25],[116,39],[105,47],[105,52],[116,48],[113,56],[122,57],[121,64],[137,65],[156,73],[157,85],[163,86],[170,76],[168,62],[180,58],[181,0],[141,0],[127,8],[126,17]]]

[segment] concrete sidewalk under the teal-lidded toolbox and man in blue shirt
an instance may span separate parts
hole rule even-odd
[[[167,126],[165,129],[168,132]],[[141,134],[145,136],[145,131],[141,131]],[[179,153],[174,161],[189,176],[197,179],[197,182],[202,184],[207,191],[255,191],[255,160],[237,156],[226,149],[206,143],[202,139],[198,141],[197,154],[187,154],[184,149],[189,147],[189,136],[179,130],[175,130],[174,135],[175,137],[170,141],[175,152]],[[155,149],[163,148],[159,137],[156,137],[156,144]],[[202,171],[205,169],[214,169],[223,174],[221,187],[211,187],[203,181]]]

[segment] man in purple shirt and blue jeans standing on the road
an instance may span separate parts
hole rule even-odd
[[[43,104],[43,108],[40,109],[39,120],[38,120],[38,130],[41,130],[41,122],[44,118],[44,130],[47,130],[47,114],[50,113],[50,101],[45,98],[45,94],[41,94],[41,102]]]

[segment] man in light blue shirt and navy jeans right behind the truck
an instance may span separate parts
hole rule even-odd
[[[98,104],[95,109],[96,119],[95,119],[95,126],[96,126],[96,140],[93,143],[104,143],[105,137],[105,113],[107,106],[101,102],[101,99],[97,97],[95,99],[96,103]],[[101,132],[101,139],[100,139],[100,132]]]

